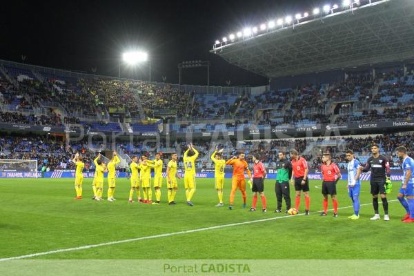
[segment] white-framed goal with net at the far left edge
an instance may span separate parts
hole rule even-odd
[[[0,173],[10,172],[10,177],[14,173],[21,173],[23,177],[37,178],[37,160],[24,159],[0,159]]]

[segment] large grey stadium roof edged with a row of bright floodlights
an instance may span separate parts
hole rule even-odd
[[[239,40],[216,41],[210,52],[268,78],[413,59],[414,1],[367,2],[262,34],[248,32]]]

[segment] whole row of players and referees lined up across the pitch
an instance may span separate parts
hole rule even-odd
[[[215,151],[210,156],[211,161],[215,164],[215,189],[217,190],[218,204],[217,207],[224,206],[224,169],[226,166],[233,166],[233,176],[231,180],[231,190],[228,208],[233,210],[235,193],[240,190],[242,193],[243,204],[242,208],[246,208],[246,174],[248,175],[248,185],[253,192],[253,201],[250,208],[250,212],[256,211],[257,201],[260,197],[262,201],[262,212],[266,213],[266,197],[264,195],[264,179],[266,178],[266,168],[260,157],[253,155],[253,174],[250,172],[248,163],[244,152],[237,152],[237,156],[233,156],[227,161],[224,160],[222,155],[224,148],[215,148]],[[388,201],[387,195],[391,193],[392,183],[390,180],[391,170],[388,159],[384,155],[380,155],[379,146],[374,144],[371,146],[372,156],[366,161],[366,164],[362,164],[357,158],[354,157],[352,150],[345,151],[345,157],[348,161],[347,172],[347,186],[348,196],[353,202],[353,215],[348,219],[359,219],[359,193],[361,190],[360,176],[362,172],[371,171],[371,195],[373,197],[373,209],[374,216],[371,220],[379,220],[379,197],[382,201],[382,207],[384,209],[384,221],[389,221],[388,215]],[[414,160],[408,157],[406,148],[400,146],[396,149],[397,156],[402,161],[404,169],[404,176],[400,190],[397,194],[397,199],[402,204],[406,211],[403,222],[414,222]],[[297,150],[290,150],[290,161],[286,158],[286,152],[279,152],[278,160],[276,162],[277,176],[275,181],[275,194],[277,197],[277,208],[275,213],[282,213],[283,199],[286,205],[284,213],[289,215],[296,215],[299,213],[299,207],[301,204],[302,193],[304,195],[305,209],[304,215],[309,215],[311,206],[311,197],[309,195],[309,179],[308,179],[308,164],[303,157],[299,157]],[[186,190],[186,204],[188,206],[194,206],[193,196],[196,191],[196,170],[195,161],[199,156],[199,152],[195,149],[193,144],[188,144],[188,149],[184,152],[184,188]],[[142,155],[140,158],[133,156],[130,163],[130,193],[128,201],[134,202],[134,194],[137,200],[144,204],[161,204],[161,188],[164,177],[162,175],[163,160],[161,154],[157,153],[155,159],[150,160],[146,155]],[[75,173],[75,199],[82,199],[82,183],[83,183],[83,163],[82,157],[77,153],[72,161],[76,164]],[[120,163],[120,159],[117,156],[117,152],[112,152],[112,158],[105,164],[101,158],[101,154],[95,158],[95,177],[92,182],[93,197],[97,201],[103,200],[103,182],[104,173],[108,172],[108,193],[107,200],[115,201],[115,188],[116,188],[116,166]],[[175,205],[175,197],[177,195],[178,184],[177,179],[181,179],[177,172],[178,157],[176,153],[171,155],[170,161],[166,168],[166,182],[167,182],[167,194],[168,204]],[[341,172],[336,164],[331,160],[330,153],[326,152],[322,157],[322,196],[323,196],[323,211],[321,216],[328,215],[328,196],[331,196],[333,205],[333,217],[337,217],[338,201],[337,201],[337,182],[342,178]],[[152,181],[151,170],[154,170],[154,180]],[[152,185],[151,185],[152,184]],[[290,186],[295,187],[295,207],[292,208],[290,203]],[[155,201],[152,201],[152,187],[155,190]],[[142,195],[142,197],[141,197]]]

